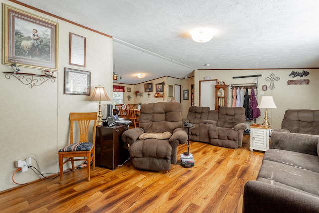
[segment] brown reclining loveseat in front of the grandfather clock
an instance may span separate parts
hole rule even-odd
[[[191,106],[183,122],[194,124],[194,128],[189,129],[190,141],[238,148],[242,146],[247,127],[245,119],[244,107],[220,107],[217,111],[209,107]]]

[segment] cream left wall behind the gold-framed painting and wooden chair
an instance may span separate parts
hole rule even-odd
[[[41,86],[23,85],[14,77],[5,78],[4,71],[12,71],[8,65],[0,65],[0,191],[17,186],[12,182],[16,170],[15,160],[32,156],[39,159],[42,173],[57,173],[58,149],[68,142],[69,113],[96,112],[97,102],[89,102],[90,96],[64,95],[64,67],[91,72],[91,94],[95,86],[104,86],[112,99],[112,39],[80,28],[40,12],[12,2],[6,3],[59,23],[59,70],[54,83]],[[2,14],[2,10],[1,10]],[[2,16],[2,15],[1,15]],[[86,37],[86,67],[71,66],[69,61],[69,32]],[[2,36],[2,33],[1,33]],[[24,73],[43,74],[43,70],[21,68]],[[105,107],[103,102],[102,106]],[[105,112],[105,109],[102,109]],[[33,160],[33,159],[32,159]],[[35,161],[31,164],[35,166]],[[69,165],[66,165],[68,168]],[[26,183],[38,179],[32,170],[17,172],[15,181]]]

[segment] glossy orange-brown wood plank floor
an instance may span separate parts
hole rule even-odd
[[[180,145],[178,153],[186,151]],[[256,179],[263,152],[191,142],[195,166],[172,165],[168,173],[141,171],[131,162],[114,171],[103,167],[64,173],[0,193],[2,213],[241,213],[243,188]]]

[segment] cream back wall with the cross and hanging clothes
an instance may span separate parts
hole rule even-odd
[[[268,109],[269,123],[273,126],[273,129],[280,129],[281,122],[284,118],[285,111],[287,109],[319,109],[319,101],[317,97],[318,93],[318,81],[319,81],[319,69],[294,69],[295,71],[302,72],[308,71],[309,75],[306,77],[292,78],[289,74],[292,69],[260,69],[260,70],[196,70],[195,71],[195,105],[199,106],[199,81],[203,80],[205,76],[211,76],[212,79],[218,79],[218,81],[224,81],[227,85],[231,84],[243,84],[254,83],[254,78],[238,78],[237,76],[249,76],[261,74],[261,77],[257,78],[258,83],[258,102],[261,98],[260,92],[263,85],[267,85],[268,89],[264,92],[264,95],[272,95],[274,102],[277,106],[276,109]],[[278,81],[274,81],[274,89],[270,89],[270,81],[266,81],[267,77],[274,73],[275,77],[279,77]],[[309,79],[309,85],[288,85],[288,80]],[[228,106],[231,106],[231,91],[229,87],[229,99]],[[260,109],[261,116],[257,119],[256,123],[262,124],[265,117],[265,109]]]

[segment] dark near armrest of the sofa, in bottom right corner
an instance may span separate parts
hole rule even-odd
[[[261,181],[244,187],[243,213],[315,213],[319,198]]]

